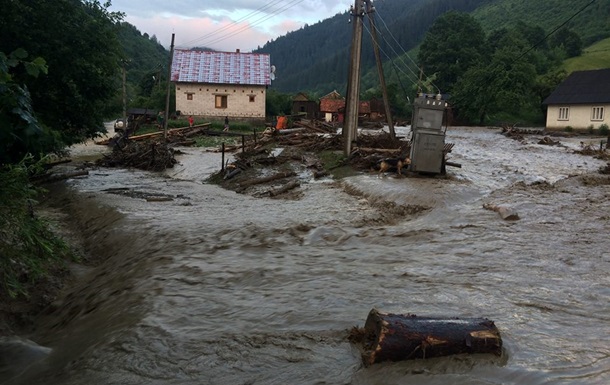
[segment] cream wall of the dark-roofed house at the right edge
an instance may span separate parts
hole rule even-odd
[[[559,110],[561,107],[569,108],[567,120],[559,120]],[[604,108],[603,120],[592,120],[593,107]],[[568,126],[577,130],[585,130],[591,125],[594,129],[597,129],[602,124],[610,126],[610,104],[574,106],[550,105],[546,113],[546,128],[550,130],[563,130]]]

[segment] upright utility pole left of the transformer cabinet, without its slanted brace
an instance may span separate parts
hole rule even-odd
[[[347,81],[347,97],[345,100],[345,121],[343,124],[344,153],[352,152],[352,142],[358,135],[358,107],[360,105],[360,54],[362,52],[362,18],[363,0],[355,0],[352,9],[354,32],[350,53],[350,66]]]

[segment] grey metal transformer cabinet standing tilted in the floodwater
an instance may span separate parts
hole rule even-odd
[[[420,95],[415,99],[409,170],[432,174],[445,172],[443,116],[446,108],[447,102],[440,95]]]

